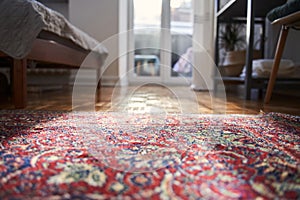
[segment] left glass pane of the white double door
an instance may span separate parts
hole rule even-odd
[[[162,0],[133,0],[133,13],[131,80],[160,82]]]

